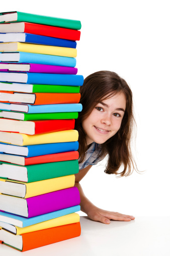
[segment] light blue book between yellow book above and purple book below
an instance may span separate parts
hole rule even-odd
[[[25,52],[18,53],[0,53],[1,62],[13,63],[34,63],[46,64],[64,67],[75,67],[76,59],[70,57],[46,55],[46,54],[32,54]]]

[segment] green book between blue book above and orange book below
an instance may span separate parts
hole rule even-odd
[[[48,85],[48,84],[20,84],[20,83],[0,83],[2,91],[18,92],[45,92],[45,93],[79,93],[80,86],[69,85]]]

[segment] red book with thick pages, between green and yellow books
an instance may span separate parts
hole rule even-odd
[[[74,129],[74,124],[74,119],[18,121],[13,119],[1,118],[0,131],[34,135],[64,130],[72,130]]]

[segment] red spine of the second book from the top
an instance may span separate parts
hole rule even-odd
[[[72,41],[77,41],[80,39],[80,31],[60,28],[60,27],[52,27],[47,25],[40,25],[35,23],[27,23],[25,24],[25,33],[36,34],[36,35],[44,35],[50,37],[57,37],[61,39],[67,39]]]

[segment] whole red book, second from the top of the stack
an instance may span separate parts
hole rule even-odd
[[[35,35],[44,35],[76,41],[80,39],[80,31],[68,28],[59,28],[28,22],[16,22],[1,24],[1,33],[29,33]]]

